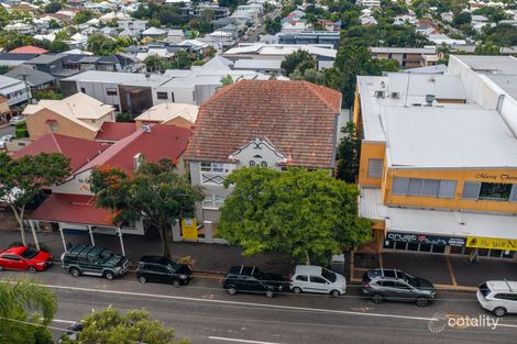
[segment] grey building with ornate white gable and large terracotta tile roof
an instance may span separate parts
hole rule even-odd
[[[206,200],[198,221],[217,221],[233,169],[297,166],[328,169],[336,163],[341,93],[307,81],[241,80],[199,109],[185,159]]]

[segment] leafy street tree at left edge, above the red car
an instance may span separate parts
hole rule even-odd
[[[44,187],[63,181],[70,174],[69,159],[59,153],[26,155],[13,159],[0,153],[0,201],[8,204],[20,224],[26,244],[23,219],[25,208]]]

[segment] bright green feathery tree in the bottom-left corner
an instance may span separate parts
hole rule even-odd
[[[46,326],[57,311],[54,295],[29,279],[0,282],[0,342],[52,344]]]

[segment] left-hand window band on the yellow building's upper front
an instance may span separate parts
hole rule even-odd
[[[454,198],[457,180],[394,177],[392,195]]]

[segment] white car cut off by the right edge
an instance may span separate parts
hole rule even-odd
[[[477,287],[481,307],[496,317],[517,313],[517,281],[488,280]]]

